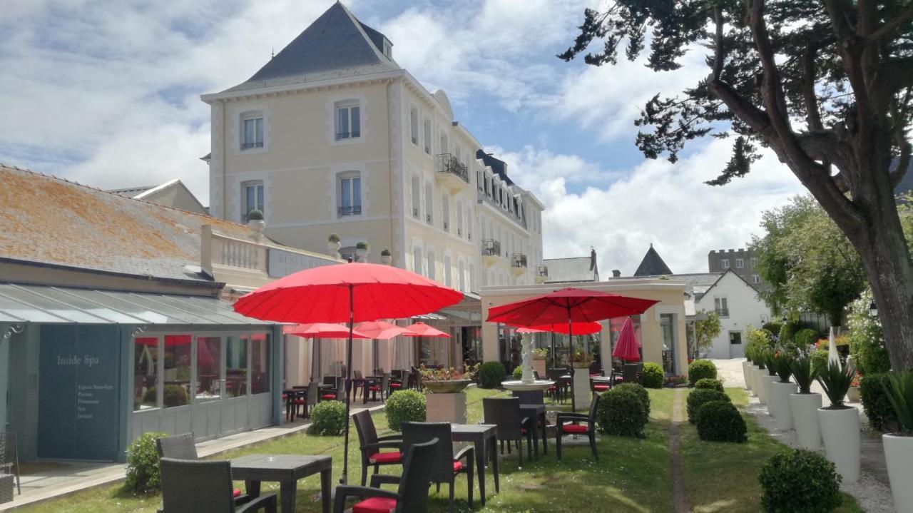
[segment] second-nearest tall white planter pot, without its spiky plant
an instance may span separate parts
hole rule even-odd
[[[818,408],[818,423],[827,459],[837,467],[844,483],[855,483],[859,479],[859,412],[852,406]]]

